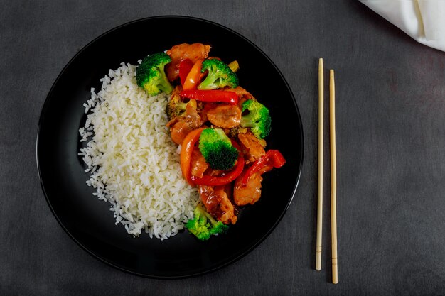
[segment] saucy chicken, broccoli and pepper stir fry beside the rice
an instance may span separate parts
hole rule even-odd
[[[240,87],[238,62],[209,53],[210,45],[179,44],[136,68],[136,82],[150,96],[171,94],[171,140],[181,151],[183,177],[200,194],[186,229],[202,241],[235,224],[241,207],[261,197],[262,175],[286,162],[267,150],[269,109]]]

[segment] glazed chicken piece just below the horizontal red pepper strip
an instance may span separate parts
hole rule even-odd
[[[207,119],[220,128],[234,128],[241,122],[241,109],[236,105],[220,105],[207,111]]]

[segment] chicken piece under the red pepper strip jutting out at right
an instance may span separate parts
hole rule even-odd
[[[237,206],[245,206],[246,204],[254,204],[261,197],[261,182],[262,176],[255,172],[245,186],[242,186],[241,180],[244,177],[243,172],[240,177],[235,180],[235,186],[233,187],[233,201]]]

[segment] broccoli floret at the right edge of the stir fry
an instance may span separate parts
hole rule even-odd
[[[272,122],[269,109],[257,101],[248,99],[242,104],[242,111],[249,111],[249,113],[241,116],[240,126],[250,128],[250,131],[259,139],[266,138],[270,133]]]

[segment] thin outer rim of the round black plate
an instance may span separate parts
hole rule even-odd
[[[250,246],[249,248],[245,249],[241,253],[237,254],[236,256],[233,256],[232,258],[230,258],[226,262],[223,262],[220,265],[218,265],[216,267],[213,267],[213,268],[207,268],[207,269],[205,269],[203,271],[200,271],[200,272],[189,273],[188,275],[171,275],[171,276],[169,276],[169,275],[148,275],[148,274],[145,274],[145,273],[138,273],[136,271],[122,268],[119,265],[115,265],[114,263],[107,261],[107,259],[102,258],[97,253],[94,253],[89,248],[87,248],[82,243],[80,243],[80,241],[78,241],[75,238],[75,236],[73,234],[71,234],[70,231],[68,231],[68,229],[65,227],[63,222],[60,220],[58,214],[53,209],[53,206],[52,206],[52,204],[50,202],[48,194],[47,194],[47,192],[45,190],[45,185],[43,185],[43,178],[42,178],[42,175],[41,175],[41,163],[39,162],[39,153],[38,153],[39,138],[40,138],[40,134],[41,134],[41,126],[42,126],[43,120],[45,118],[45,114],[47,113],[48,106],[50,104],[50,99],[49,98],[50,98],[51,94],[53,93],[55,86],[58,84],[58,81],[60,80],[61,77],[63,77],[63,75],[66,72],[66,70],[68,69],[68,67],[70,67],[70,65],[77,59],[77,57],[79,55],[81,55],[85,50],[87,50],[87,48],[89,48],[92,44],[96,43],[97,40],[100,40],[104,36],[114,32],[114,31],[118,31],[121,28],[124,28],[125,26],[132,25],[133,23],[150,21],[152,19],[159,19],[159,18],[180,18],[180,19],[186,19],[186,20],[200,21],[200,22],[203,22],[203,23],[209,23],[210,25],[218,26],[220,28],[223,28],[226,31],[229,31],[232,34],[237,35],[237,37],[242,38],[247,43],[252,45],[256,50],[259,51],[259,53],[261,53],[270,62],[270,64],[274,67],[274,69],[277,70],[279,76],[282,78],[282,81],[286,85],[286,88],[287,88],[289,94],[291,94],[291,99],[292,99],[292,102],[293,102],[294,107],[296,109],[296,113],[298,115],[297,121],[299,123],[299,132],[301,134],[301,138],[299,139],[300,143],[301,143],[301,147],[300,147],[301,148],[301,157],[299,158],[299,169],[298,169],[298,175],[296,177],[296,182],[295,182],[295,185],[294,185],[294,189],[292,190],[292,195],[291,195],[291,198],[289,199],[289,202],[287,202],[286,207],[284,207],[282,213],[279,215],[278,219],[275,221],[275,223],[272,225],[272,227],[261,238],[259,238],[256,243],[254,243],[252,246]],[[162,15],[162,16],[149,16],[149,17],[146,17],[146,18],[138,18],[138,19],[133,20],[133,21],[128,21],[126,23],[122,23],[121,25],[116,26],[114,28],[111,28],[111,29],[105,31],[104,33],[98,35],[93,40],[91,40],[89,43],[84,45],[79,51],[77,51],[77,53],[73,57],[71,57],[71,59],[67,62],[65,67],[63,67],[63,69],[60,70],[60,73],[55,78],[52,86],[50,87],[50,90],[49,90],[48,94],[45,97],[45,102],[43,103],[43,106],[41,107],[41,113],[40,113],[40,116],[39,116],[39,119],[38,119],[38,129],[37,129],[37,136],[36,136],[36,165],[37,165],[37,170],[38,170],[38,177],[39,177],[39,182],[40,182],[40,185],[41,185],[41,189],[43,191],[43,195],[45,196],[45,200],[46,200],[46,202],[48,204],[48,207],[50,207],[50,211],[52,212],[52,214],[55,217],[56,221],[58,221],[58,224],[62,227],[62,229],[65,231],[65,233],[68,234],[68,236],[71,239],[73,239],[73,241],[75,241],[75,243],[78,246],[80,246],[80,248],[82,248],[84,251],[89,253],[92,257],[96,258],[97,260],[101,261],[102,263],[105,263],[106,265],[109,265],[109,266],[112,266],[113,268],[116,268],[117,270],[121,270],[124,273],[129,273],[129,274],[132,274],[132,275],[138,275],[138,276],[143,277],[143,278],[153,278],[153,279],[192,278],[192,277],[195,277],[195,276],[198,276],[198,275],[204,275],[206,273],[213,273],[216,270],[220,270],[221,268],[225,268],[227,265],[235,263],[236,261],[239,261],[244,256],[247,256],[247,254],[252,252],[254,250],[254,248],[257,248],[257,246],[259,246],[259,244],[262,243],[272,233],[272,231],[274,231],[274,229],[277,227],[279,222],[282,221],[282,219],[284,217],[284,214],[286,214],[287,210],[290,207],[290,204],[291,204],[292,200],[295,197],[296,190],[298,188],[298,185],[299,185],[299,182],[300,182],[300,179],[301,179],[301,170],[302,170],[302,167],[303,167],[303,160],[304,160],[304,130],[303,130],[303,123],[301,121],[301,114],[300,114],[300,111],[299,111],[299,106],[298,106],[298,104],[296,104],[296,99],[294,97],[294,93],[292,92],[291,87],[289,86],[289,83],[287,82],[287,80],[285,79],[284,75],[282,74],[282,72],[277,67],[277,65],[275,65],[275,63],[272,61],[272,59],[266,53],[264,53],[264,51],[261,48],[259,48],[257,45],[255,45],[251,40],[246,38],[244,35],[241,35],[240,33],[237,33],[237,31],[234,31],[231,28],[228,28],[227,26],[221,25],[220,23],[216,23],[215,21],[209,21],[207,19],[197,18],[197,17],[194,17],[194,16]]]

